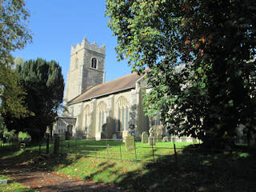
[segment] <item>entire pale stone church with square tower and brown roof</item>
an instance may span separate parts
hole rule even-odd
[[[140,138],[150,126],[160,125],[158,117],[149,118],[143,111],[142,93],[149,90],[146,74],[132,73],[105,82],[105,57],[106,46],[90,44],[86,38],[71,46],[64,96],[67,112],[58,117],[54,133],[69,131],[73,137],[96,140],[128,134]]]

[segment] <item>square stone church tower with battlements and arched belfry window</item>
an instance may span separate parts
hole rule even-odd
[[[105,81],[105,50],[106,46],[100,47],[96,42],[90,44],[86,38],[77,46],[71,46],[64,105],[91,86]]]

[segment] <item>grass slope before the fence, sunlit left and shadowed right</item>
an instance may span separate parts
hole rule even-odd
[[[171,143],[157,144],[157,146],[168,145],[170,146]],[[179,143],[177,146],[185,145],[185,143]],[[112,150],[118,150],[118,146],[113,147]],[[146,149],[141,150],[145,152]],[[105,151],[102,150],[99,153],[103,152]],[[130,159],[134,160],[134,151],[129,153],[132,156]],[[61,163],[60,166],[55,167],[55,170],[73,178],[102,182],[129,191],[250,191],[248,189],[256,189],[255,156],[248,151],[237,150],[232,153],[226,151],[211,154],[184,150],[178,153],[177,161],[174,154],[169,154],[169,150],[168,152],[159,150],[158,153],[162,155],[166,153],[166,156],[158,157],[155,162],[81,157],[68,165]]]

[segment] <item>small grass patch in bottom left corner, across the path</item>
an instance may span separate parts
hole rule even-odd
[[[37,190],[32,190],[27,188],[26,186],[22,186],[18,182],[12,181],[10,178],[7,178],[5,175],[0,174],[0,179],[7,179],[6,185],[0,184],[0,191],[1,192],[36,192]]]

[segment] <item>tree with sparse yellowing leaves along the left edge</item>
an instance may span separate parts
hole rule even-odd
[[[0,104],[1,114],[24,117],[28,111],[22,105],[25,94],[12,70],[11,52],[22,49],[31,41],[27,22],[30,14],[23,0],[0,0]]]

